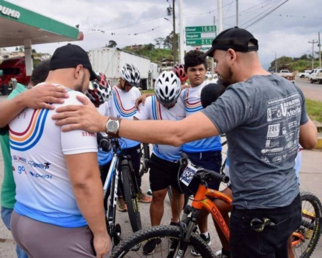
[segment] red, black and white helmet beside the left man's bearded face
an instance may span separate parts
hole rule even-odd
[[[111,98],[112,87],[105,74],[97,73],[97,75],[99,80],[95,79],[90,81],[85,95],[96,107],[99,107],[100,104],[103,104]]]

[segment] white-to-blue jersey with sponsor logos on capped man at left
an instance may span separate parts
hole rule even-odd
[[[80,105],[70,90],[64,104]],[[63,133],[55,125],[55,110],[24,109],[10,122],[16,204],[14,210],[34,220],[62,227],[87,225],[72,191],[64,155],[97,152],[96,134],[75,130]]]

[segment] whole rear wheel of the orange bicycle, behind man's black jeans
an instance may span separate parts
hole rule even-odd
[[[293,233],[293,252],[296,258],[308,258],[319,241],[322,230],[322,205],[312,193],[301,192],[302,222]]]

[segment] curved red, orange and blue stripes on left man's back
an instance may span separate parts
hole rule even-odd
[[[35,109],[23,132],[15,132],[9,128],[10,148],[17,151],[27,151],[35,146],[43,135],[48,112],[49,109]],[[19,115],[24,115],[24,112]]]

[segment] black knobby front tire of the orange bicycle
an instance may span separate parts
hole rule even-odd
[[[147,229],[137,231],[126,240],[121,241],[121,243],[114,248],[111,258],[132,257],[132,256],[127,256],[127,253],[132,252],[131,249],[134,246],[137,246],[138,244],[144,241],[147,241],[151,238],[161,238],[161,237],[178,239],[180,234],[181,234],[180,227],[170,226],[170,225],[160,225],[160,226],[150,227]],[[204,240],[202,240],[202,238],[199,235],[192,234],[190,236],[189,245],[196,248],[200,252],[201,257],[215,258],[215,255],[210,249],[210,247],[204,242]],[[137,251],[137,252],[141,252],[142,254],[142,251]],[[142,257],[142,256],[139,256],[139,257]]]

